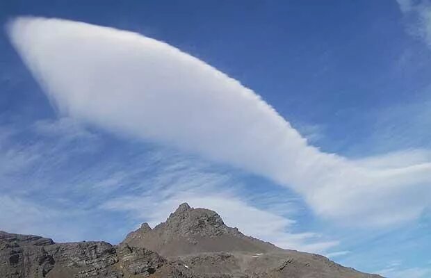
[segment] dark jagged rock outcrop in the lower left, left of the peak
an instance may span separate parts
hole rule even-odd
[[[184,265],[127,244],[54,243],[49,238],[0,231],[1,278],[190,278],[187,272]]]

